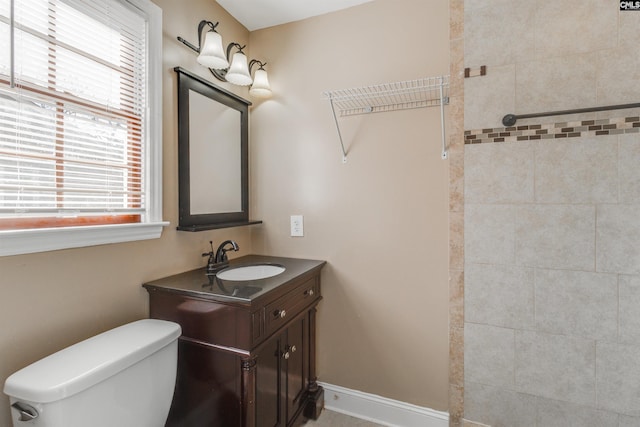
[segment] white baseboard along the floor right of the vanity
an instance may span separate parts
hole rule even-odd
[[[449,414],[387,399],[375,394],[318,383],[324,388],[324,407],[390,427],[449,427]]]

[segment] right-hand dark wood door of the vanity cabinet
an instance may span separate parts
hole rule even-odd
[[[286,400],[287,400],[287,423],[301,409],[304,392],[307,385],[307,372],[305,358],[307,357],[307,326],[306,317],[296,320],[286,332],[285,354],[285,376],[286,376]]]

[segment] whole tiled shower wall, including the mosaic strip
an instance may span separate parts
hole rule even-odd
[[[640,426],[640,13],[465,0],[464,417]],[[610,119],[610,120],[609,120]]]

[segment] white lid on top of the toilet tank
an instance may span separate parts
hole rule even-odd
[[[55,402],[139,362],[178,339],[181,333],[180,325],[165,320],[128,323],[19,370],[7,378],[4,392],[31,402]]]

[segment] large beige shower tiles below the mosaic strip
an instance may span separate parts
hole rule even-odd
[[[467,419],[640,425],[632,165],[640,134],[465,146]]]

